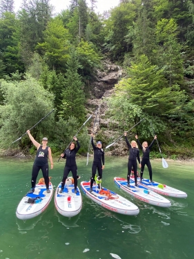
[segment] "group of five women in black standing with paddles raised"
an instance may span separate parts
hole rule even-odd
[[[31,184],[32,187],[29,191],[29,193],[33,193],[35,191],[35,185],[37,181],[37,176],[39,173],[39,170],[41,169],[43,173],[43,178],[45,180],[46,184],[46,191],[47,193],[50,193],[49,189],[49,178],[48,178],[48,158],[50,160],[50,168],[53,168],[53,162],[52,162],[52,154],[51,154],[51,149],[48,144],[48,138],[43,137],[41,144],[39,144],[34,137],[30,134],[30,131],[27,131],[28,136],[30,137],[30,140],[32,143],[37,147],[37,155],[35,157],[35,162],[32,167],[32,179],[31,179]],[[153,174],[152,174],[152,167],[151,167],[151,162],[150,162],[150,152],[151,152],[151,147],[153,146],[155,140],[157,139],[157,136],[155,135],[153,142],[148,146],[148,142],[143,142],[142,144],[139,142],[138,136],[135,135],[136,141],[128,142],[127,138],[127,133],[124,133],[124,137],[126,140],[126,144],[129,149],[129,157],[128,157],[128,173],[127,173],[127,185],[128,187],[130,186],[130,173],[133,169],[134,173],[134,178],[135,178],[135,186],[137,186],[137,161],[139,162],[139,168],[141,169],[140,172],[140,181],[143,179],[143,173],[144,173],[144,167],[145,165],[148,167],[149,171],[149,176],[150,176],[150,181],[153,182]],[[102,144],[101,141],[98,140],[96,145],[94,144],[93,141],[93,133],[91,134],[91,143],[93,146],[93,151],[94,151],[94,160],[93,160],[93,166],[92,166],[92,176],[90,178],[90,192],[93,191],[93,183],[96,182],[96,184],[99,184],[100,188],[100,182],[102,178],[102,171],[104,169],[104,151],[102,149]],[[64,186],[66,184],[66,180],[68,178],[68,174],[70,171],[72,172],[72,178],[74,180],[74,187],[75,190],[74,192],[77,193],[77,164],[76,164],[76,154],[77,151],[79,151],[80,144],[77,140],[77,137],[73,137],[73,140],[75,142],[71,142],[68,148],[64,151],[64,153],[61,153],[61,157],[66,159],[66,164],[64,167],[64,175],[61,180],[61,189],[60,193],[64,191]],[[139,157],[139,148],[142,149],[143,156],[142,156],[142,161],[140,162],[140,157]],[[95,178],[96,172],[98,172],[97,178]]]

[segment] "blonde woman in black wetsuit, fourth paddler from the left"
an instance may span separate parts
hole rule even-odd
[[[126,144],[129,149],[129,157],[128,157],[128,173],[127,173],[127,186],[130,186],[130,173],[133,167],[134,176],[135,176],[135,186],[137,186],[137,160],[139,162],[139,168],[141,168],[140,157],[139,157],[139,148],[137,146],[137,142],[134,140],[129,143],[126,137],[126,132],[124,133]]]

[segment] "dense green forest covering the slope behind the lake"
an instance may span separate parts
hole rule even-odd
[[[108,59],[124,70],[107,99],[121,135],[144,118],[135,133],[151,141],[152,123],[166,156],[194,157],[194,1],[120,0],[102,15],[96,6],[71,0],[56,15],[49,0],[23,0],[17,12],[0,0],[1,150],[55,109],[31,133],[60,153],[86,121]],[[86,127],[79,140],[86,153]],[[28,137],[11,147],[35,152]]]

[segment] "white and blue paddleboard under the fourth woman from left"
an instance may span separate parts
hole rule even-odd
[[[114,178],[115,184],[126,191],[126,193],[133,195],[133,197],[159,207],[171,207],[171,202],[163,196],[146,189],[144,186],[135,186],[135,182],[130,179],[130,187],[127,186],[127,180],[124,178]]]

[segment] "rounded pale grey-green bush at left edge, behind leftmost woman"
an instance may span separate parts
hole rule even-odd
[[[5,147],[52,110],[53,95],[28,75],[25,81],[1,80],[1,91],[4,105],[0,106],[0,140],[1,146]],[[53,115],[50,115],[32,131],[37,140],[40,140],[42,135],[50,136],[52,117]],[[17,144],[22,147],[26,144],[26,138],[23,137]]]

